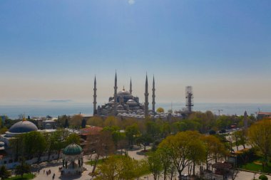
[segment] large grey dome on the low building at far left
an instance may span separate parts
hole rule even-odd
[[[9,128],[9,132],[12,133],[24,133],[24,132],[32,132],[37,131],[38,127],[34,125],[34,123],[30,121],[20,121],[16,122],[14,125]]]

